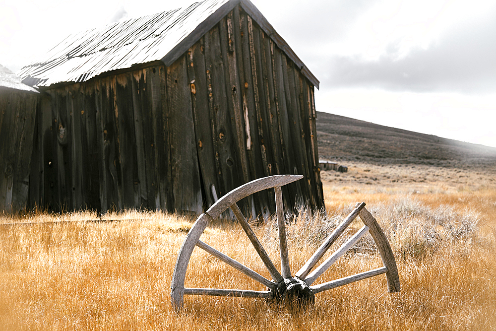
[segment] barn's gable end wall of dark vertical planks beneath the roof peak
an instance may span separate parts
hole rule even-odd
[[[286,206],[321,208],[313,85],[300,69],[239,6],[186,60],[208,205],[256,178],[302,174],[283,189]],[[265,191],[243,206],[274,211],[273,200]]]

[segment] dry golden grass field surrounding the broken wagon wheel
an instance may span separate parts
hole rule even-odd
[[[184,312],[174,313],[170,281],[192,219],[135,211],[105,216],[122,219],[114,222],[78,221],[96,219],[90,212],[3,217],[71,222],[0,226],[0,330],[495,330],[496,190],[441,191],[325,185],[328,217],[302,209],[288,226],[293,273],[366,201],[390,239],[402,291],[385,293],[380,275],[317,294],[303,311],[186,296]],[[280,265],[273,222],[255,231]],[[239,225],[217,221],[202,240],[268,277]],[[366,237],[317,282],[380,263]],[[186,286],[263,289],[199,249]]]

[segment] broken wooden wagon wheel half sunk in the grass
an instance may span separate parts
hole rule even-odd
[[[183,306],[185,294],[266,298],[276,301],[285,300],[286,302],[300,299],[300,302],[309,303],[314,301],[314,295],[316,293],[365,278],[377,276],[382,273],[386,274],[388,292],[400,291],[398,270],[396,268],[393,253],[391,252],[391,247],[389,246],[389,243],[376,220],[365,208],[365,202],[357,203],[356,208],[336,227],[334,232],[332,232],[331,235],[322,243],[309,261],[307,261],[307,263],[303,265],[298,272],[296,272],[294,277],[292,276],[289,266],[281,187],[302,178],[303,176],[301,175],[276,175],[251,181],[237,189],[234,189],[221,199],[217,200],[217,202],[215,202],[205,213],[201,214],[196,219],[195,223],[191,227],[191,230],[189,230],[186,236],[186,240],[184,241],[181,250],[179,251],[178,260],[176,262],[176,266],[174,267],[174,273],[172,276],[171,299],[172,305],[176,311],[179,311],[179,309]],[[237,204],[239,200],[244,199],[253,193],[271,188],[274,188],[276,199],[277,225],[281,253],[281,272],[276,269],[270,260]],[[247,266],[242,265],[241,263],[231,259],[227,255],[199,240],[207,225],[212,220],[219,217],[219,215],[227,208],[231,208],[236,215],[236,218],[248,235],[249,240],[260,256],[263,264],[269,271],[272,280],[263,277]],[[362,227],[357,233],[348,239],[346,243],[339,247],[327,260],[312,271],[312,268],[327,252],[329,247],[357,216],[360,216],[360,219],[365,224],[364,227]],[[312,286],[315,279],[317,279],[335,261],[343,256],[346,251],[352,248],[353,245],[367,232],[371,233],[372,238],[377,245],[383,262],[382,267]],[[243,272],[248,277],[267,286],[268,290],[254,291],[217,288],[185,288],[184,283],[186,278],[186,269],[189,263],[189,258],[191,257],[191,253],[193,252],[195,246],[198,246],[221,261]],[[288,298],[290,300],[287,300]]]

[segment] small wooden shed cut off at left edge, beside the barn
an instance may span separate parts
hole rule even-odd
[[[0,213],[26,207],[38,96],[0,65]]]

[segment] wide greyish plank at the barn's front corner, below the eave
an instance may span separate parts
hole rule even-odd
[[[201,213],[203,202],[186,58],[167,67],[168,125],[174,208]]]

